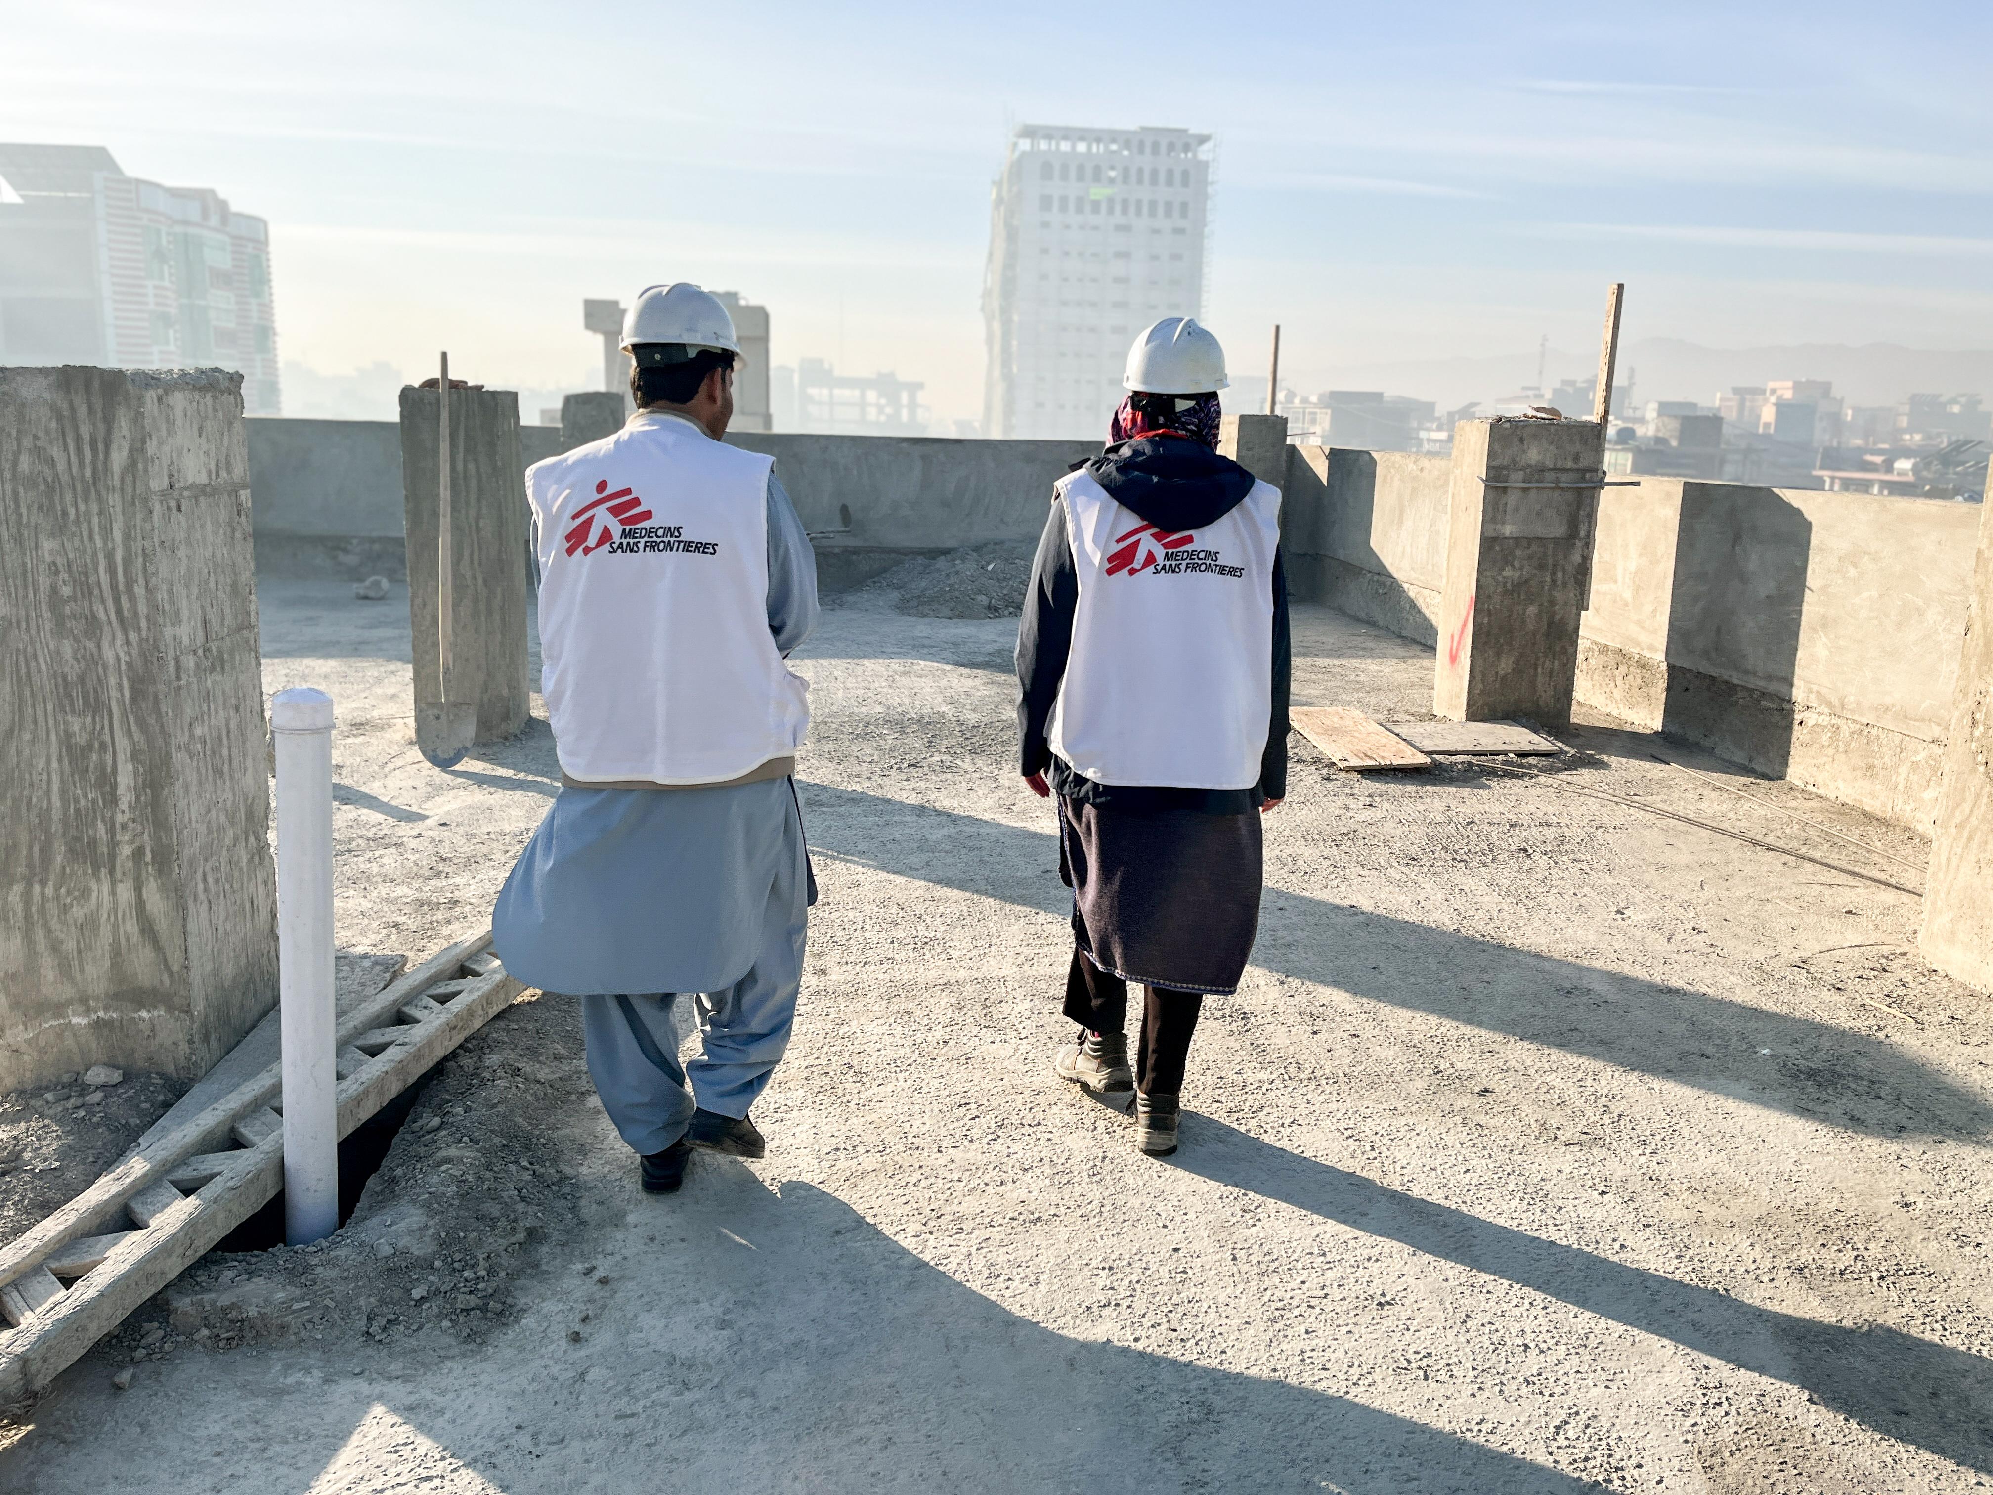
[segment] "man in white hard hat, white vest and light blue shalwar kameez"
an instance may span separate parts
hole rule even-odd
[[[727,309],[652,285],[622,345],[636,415],[526,472],[562,787],[492,941],[526,985],[580,997],[602,1106],[670,1194],[692,1148],[765,1150],[747,1110],[789,1043],[817,893],[791,779],[807,684],[783,662],[817,570],[773,458],[721,443]]]

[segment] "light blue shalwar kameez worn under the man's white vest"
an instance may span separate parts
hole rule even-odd
[[[767,480],[767,626],[817,624],[817,558]],[[791,779],[713,789],[562,787],[492,909],[518,981],[582,1001],[588,1074],[622,1140],[662,1152],[694,1108],[745,1116],[789,1046],[817,883]],[[678,1062],[678,997],[702,1056]],[[690,1092],[688,1092],[690,1070]]]

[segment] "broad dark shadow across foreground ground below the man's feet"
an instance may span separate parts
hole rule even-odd
[[[456,1463],[506,1491],[1606,1489],[1349,1397],[1046,1330],[837,1196],[801,1182],[777,1196],[731,1160],[700,1160],[684,1194],[630,1208],[626,1232],[658,1228],[676,1242],[624,1258],[646,1280],[600,1294],[576,1342],[522,1326],[492,1349],[462,1351],[484,1365],[405,1357],[367,1377],[311,1375],[313,1391],[281,1403],[261,1447],[251,1453],[237,1435],[199,1485],[219,1495],[466,1487],[448,1477]],[[530,1357],[532,1373],[498,1373],[512,1355]],[[267,1395],[271,1367],[223,1357],[171,1373],[203,1383],[175,1397],[151,1377],[90,1431],[126,1439],[134,1473],[145,1419],[221,1447],[227,1409]],[[371,1453],[343,1447],[377,1403],[444,1459],[407,1435]],[[50,1467],[38,1467],[44,1457]],[[80,1489],[72,1457],[32,1435],[0,1453],[0,1485]]]

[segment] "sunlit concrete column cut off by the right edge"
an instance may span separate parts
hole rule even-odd
[[[1983,510],[1919,945],[1939,971],[1993,991],[1993,524]]]

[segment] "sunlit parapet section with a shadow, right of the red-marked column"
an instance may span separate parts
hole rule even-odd
[[[1606,488],[1580,700],[1929,833],[1979,514],[1686,478]]]

